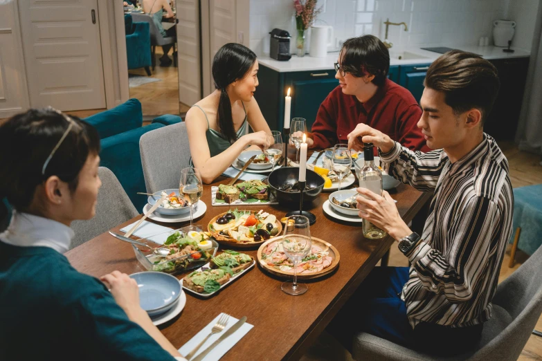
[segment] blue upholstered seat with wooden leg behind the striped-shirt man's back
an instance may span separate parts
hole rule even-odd
[[[512,230],[509,267],[514,266],[517,248],[533,254],[542,244],[542,184],[514,188]]]

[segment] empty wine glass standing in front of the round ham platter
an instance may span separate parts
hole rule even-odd
[[[306,284],[298,284],[297,265],[311,251],[311,231],[306,216],[289,216],[284,226],[282,249],[293,263],[293,281],[286,281],[280,286],[288,295],[302,295],[309,289]]]

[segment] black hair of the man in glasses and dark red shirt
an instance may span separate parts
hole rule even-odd
[[[352,37],[341,48],[341,66],[354,77],[374,75],[372,82],[381,86],[390,71],[390,52],[374,35]]]

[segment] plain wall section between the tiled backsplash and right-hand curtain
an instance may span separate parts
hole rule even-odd
[[[512,46],[531,50],[536,14],[540,0],[511,0],[508,6],[508,19],[516,21],[516,33]]]

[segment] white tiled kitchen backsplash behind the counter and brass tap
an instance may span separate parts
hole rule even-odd
[[[482,36],[489,37],[489,44],[492,44],[493,21],[505,19],[514,1],[318,0],[323,12],[318,15],[316,24],[334,27],[337,48],[345,39],[364,34],[384,39],[386,27],[383,22],[388,18],[391,22],[404,21],[408,25],[406,32],[402,26],[389,27],[388,39],[396,48],[476,45]],[[269,32],[273,28],[282,28],[292,36],[291,51],[295,51],[293,1],[251,0],[250,6],[251,49],[260,55],[269,53]]]

